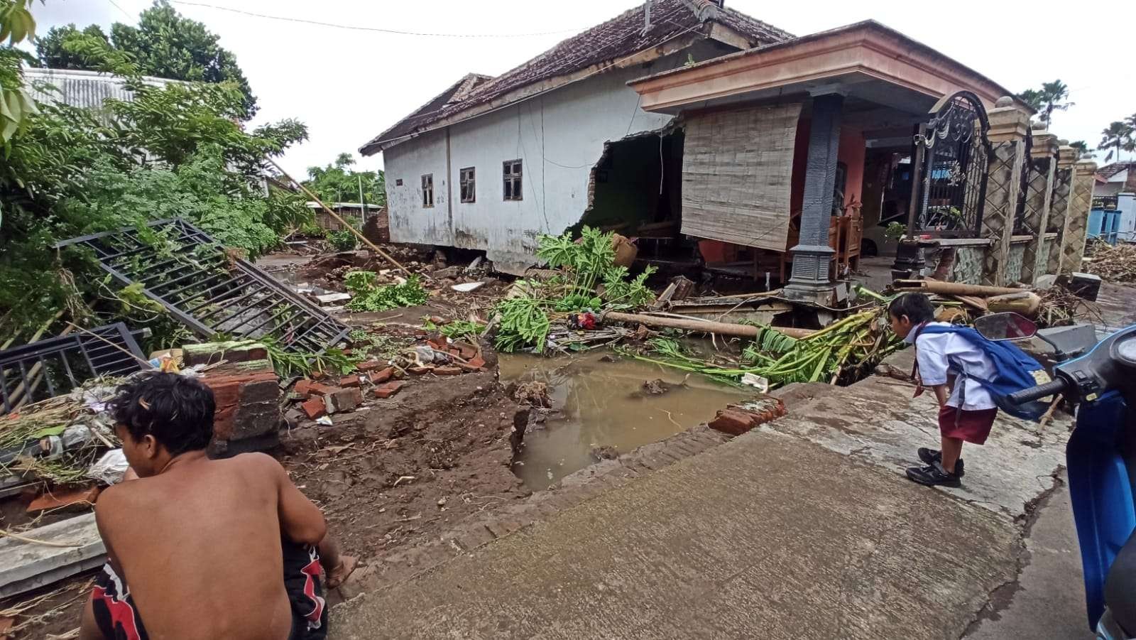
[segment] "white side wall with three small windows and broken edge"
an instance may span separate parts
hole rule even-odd
[[[695,59],[721,55],[709,43]],[[628,80],[680,66],[687,51],[599,74],[384,151],[391,240],[479,249],[498,269],[534,264],[536,239],[577,224],[587,208],[592,168],[604,142],[660,130],[671,116],[638,108]],[[701,53],[701,55],[699,55]],[[504,201],[503,163],[523,160],[524,200]],[[658,161],[644,158],[644,161]],[[460,201],[459,172],[476,169],[476,202]],[[434,174],[434,207],[421,206],[421,175]],[[399,185],[398,181],[402,184]],[[452,201],[451,201],[452,198]]]

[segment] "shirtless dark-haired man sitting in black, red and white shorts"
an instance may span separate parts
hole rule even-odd
[[[321,563],[335,588],[354,559],[340,556],[323,514],[279,463],[262,454],[210,460],[214,397],[191,377],[136,379],[110,409],[140,480],[99,497],[108,562],[80,638],[323,638]]]

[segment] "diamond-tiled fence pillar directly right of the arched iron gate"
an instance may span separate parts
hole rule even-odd
[[[1013,216],[1021,192],[1029,115],[1013,107],[1013,99],[999,98],[989,114],[993,151],[987,167],[986,206],[982,238],[991,240],[983,260],[983,284],[1002,286],[1010,264]]]

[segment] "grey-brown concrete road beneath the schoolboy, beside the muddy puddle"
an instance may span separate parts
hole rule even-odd
[[[1070,548],[1062,515],[1024,529],[1068,421],[1002,418],[961,489],[927,489],[903,468],[937,441],[933,400],[887,379],[800,391],[787,418],[337,607],[331,637],[1080,638],[1072,555],[1049,552]]]

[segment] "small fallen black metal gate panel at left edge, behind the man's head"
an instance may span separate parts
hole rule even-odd
[[[0,351],[0,415],[67,393],[92,377],[128,375],[144,363],[123,323],[6,349]]]

